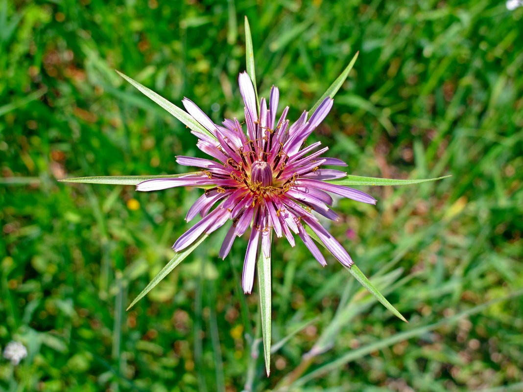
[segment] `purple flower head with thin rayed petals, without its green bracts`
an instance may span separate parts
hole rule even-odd
[[[320,224],[313,211],[331,220],[338,219],[331,210],[333,199],[327,192],[368,204],[376,204],[376,200],[365,192],[325,182],[345,177],[346,173],[324,166],[347,165],[342,160],[324,157],[328,147],[320,148],[320,142],[303,147],[307,137],[331,110],[333,100],[325,98],[310,118],[304,111],[290,124],[289,107],[283,109],[277,120],[277,87],[271,88],[268,103],[265,98],[261,99],[258,111],[254,87],[246,72],[240,74],[238,83],[245,102],[242,123],[235,118],[226,119],[223,126],[214,124],[194,102],[183,100],[190,116],[215,137],[191,131],[199,138],[198,148],[214,160],[177,156],[180,165],[199,167],[201,173],[143,181],[137,190],[195,185],[207,188],[186,217],[190,221],[200,214],[202,219],[178,238],[173,246],[175,251],[187,248],[203,233],[209,234],[230,220],[229,232],[220,249],[220,257],[225,258],[234,239],[252,227],[243,264],[245,293],[253,289],[258,252],[263,251],[270,257],[271,230],[277,237],[285,236],[291,246],[294,246],[293,235],[297,234],[316,260],[325,266],[325,258],[305,231],[304,224],[308,225],[334,257],[350,267],[353,261],[347,251]]]

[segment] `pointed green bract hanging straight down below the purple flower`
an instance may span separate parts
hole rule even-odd
[[[254,228],[253,228],[254,230]],[[269,240],[272,241],[272,234]],[[270,374],[270,327],[271,327],[271,288],[270,288],[270,256],[265,257],[263,249],[259,250],[258,262],[258,285],[260,297],[261,335],[263,336],[263,349],[265,358],[265,370],[267,377]]]

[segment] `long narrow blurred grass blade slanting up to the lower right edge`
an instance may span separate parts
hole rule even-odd
[[[461,312],[455,316],[451,316],[451,317],[442,319],[440,321],[437,321],[434,324],[419,326],[417,328],[414,328],[414,329],[411,329],[408,331],[396,333],[396,335],[393,335],[386,339],[382,339],[377,342],[364,345],[363,347],[360,347],[359,349],[349,351],[345,355],[341,356],[340,358],[338,358],[332,362],[329,362],[329,363],[326,363],[326,364],[320,366],[319,368],[315,369],[311,373],[306,374],[305,376],[299,378],[295,383],[292,384],[292,386],[298,387],[300,385],[305,384],[306,382],[310,381],[313,378],[319,377],[328,372],[332,372],[335,369],[337,369],[341,366],[345,366],[347,363],[349,363],[351,361],[362,358],[363,356],[368,355],[373,351],[381,350],[385,347],[390,347],[391,345],[402,342],[404,340],[412,339],[417,336],[421,336],[424,333],[433,331],[441,326],[452,324],[453,322],[456,322],[463,317],[467,317],[467,316],[470,316],[470,315],[473,315],[476,313],[480,313],[483,309],[486,309],[487,307],[492,306],[493,304],[496,304],[496,303],[502,302],[502,301],[506,301],[507,299],[510,299],[510,298],[516,298],[520,295],[523,295],[523,290],[519,290],[519,291],[516,291],[505,297],[496,298],[496,299],[493,299],[492,301],[486,302],[484,304],[474,306],[473,308],[465,310],[464,312]]]

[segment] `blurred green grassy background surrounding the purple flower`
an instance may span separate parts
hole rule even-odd
[[[453,175],[336,206],[333,234],[410,324],[276,241],[270,378],[245,238],[222,261],[215,233],[124,310],[200,190],[57,182],[188,170],[196,138],[113,70],[240,117],[244,15],[260,95],[277,85],[291,119],[360,51],[311,138],[351,174]],[[0,1],[0,347],[29,352],[0,359],[0,390],[523,390],[522,37],[523,7],[486,0]]]

